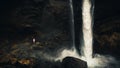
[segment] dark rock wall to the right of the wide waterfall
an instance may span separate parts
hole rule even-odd
[[[120,8],[119,0],[95,1],[94,51],[120,56]]]

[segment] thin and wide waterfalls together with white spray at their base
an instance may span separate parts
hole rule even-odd
[[[64,49],[60,56],[55,58],[55,61],[61,60],[67,56],[76,57],[82,59],[87,62],[89,68],[109,68],[109,64],[116,64],[117,61],[114,57],[111,56],[103,56],[99,54],[94,54],[93,56],[93,35],[92,35],[92,24],[93,24],[93,5],[92,0],[83,0],[82,4],[82,20],[83,20],[83,40],[84,45],[82,47],[81,52],[82,56],[78,55],[76,52],[75,46],[75,31],[74,31],[74,13],[73,13],[73,5],[72,0],[70,1],[70,9],[71,9],[71,31],[72,31],[72,41],[73,41],[73,50]],[[114,68],[114,67],[112,67]]]

